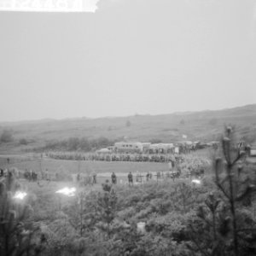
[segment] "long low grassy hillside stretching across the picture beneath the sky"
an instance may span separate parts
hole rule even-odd
[[[130,125],[127,125],[127,121]],[[181,141],[183,135],[187,135],[188,140],[210,141],[218,139],[225,124],[236,125],[240,137],[253,141],[256,138],[256,104],[218,111],[0,123],[0,132],[10,129],[15,138],[13,143],[2,143],[0,149],[17,147],[22,138],[32,140],[32,143],[21,148],[44,145],[46,141],[69,137],[126,137],[132,141],[160,139],[171,143]]]

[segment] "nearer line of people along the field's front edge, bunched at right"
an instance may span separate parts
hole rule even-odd
[[[203,177],[205,171],[210,166],[210,161],[205,158],[195,157],[193,155],[170,155],[166,160],[166,170],[163,172],[129,172],[126,178],[124,173],[113,172],[108,177],[106,174],[99,174],[96,172],[90,173],[70,173],[66,172],[54,172],[48,169],[34,171],[34,170],[19,170],[18,168],[1,169],[0,177],[3,177],[12,172],[17,178],[25,178],[29,182],[40,181],[73,181],[79,183],[79,185],[93,185],[97,183],[97,179],[105,181],[106,178],[111,179],[113,184],[127,183],[129,185],[133,183],[144,183],[150,180],[159,181],[164,179],[175,179],[178,177]]]

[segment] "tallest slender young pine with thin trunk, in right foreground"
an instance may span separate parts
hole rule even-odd
[[[245,201],[249,201],[248,204],[250,204],[250,197],[252,192],[255,191],[255,187],[250,177],[246,174],[242,175],[241,160],[244,158],[245,152],[236,147],[234,127],[228,126],[225,129],[222,138],[222,152],[224,158],[218,158],[215,162],[216,184],[229,205],[233,251],[234,255],[238,256],[240,254],[239,239],[241,237],[239,233],[242,229],[238,225],[238,204],[240,202],[244,204]],[[223,174],[223,177],[221,177],[221,174]]]

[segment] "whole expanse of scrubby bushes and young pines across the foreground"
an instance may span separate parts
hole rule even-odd
[[[2,211],[1,255],[255,255],[255,166],[245,164],[231,127],[222,143],[201,183],[104,183],[75,197],[58,197],[53,183],[28,183],[17,209],[8,202],[19,186],[2,182],[1,205],[10,211]],[[27,215],[11,214],[19,211]]]

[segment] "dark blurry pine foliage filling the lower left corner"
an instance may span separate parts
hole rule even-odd
[[[44,251],[46,240],[39,227],[29,222],[29,205],[13,197],[19,189],[12,172],[0,183],[1,256],[39,255]]]

